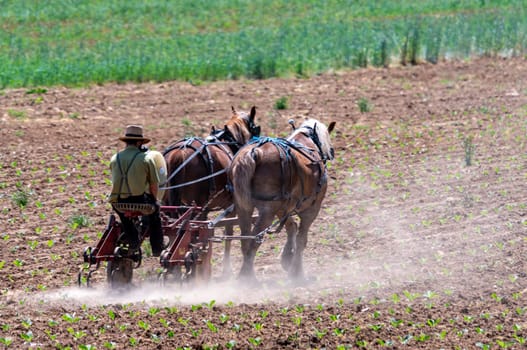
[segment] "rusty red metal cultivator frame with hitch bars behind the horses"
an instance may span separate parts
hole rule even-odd
[[[230,213],[232,208],[225,213]],[[172,217],[171,213],[179,213],[177,217]],[[163,268],[160,279],[165,281],[167,275],[174,273],[180,281],[199,281],[207,282],[212,275],[212,243],[225,240],[240,240],[249,237],[240,236],[214,236],[214,229],[225,225],[235,225],[237,218],[223,218],[210,220],[195,220],[202,213],[202,208],[198,206],[161,206],[161,226],[163,236],[168,237],[168,245],[160,255],[159,261]],[[173,214],[172,214],[173,215]],[[140,222],[137,213],[134,215]],[[95,248],[87,247],[84,249],[84,264],[78,273],[78,285],[84,283],[89,287],[90,278],[93,272],[97,271],[102,262],[108,262],[108,266],[120,266],[122,269],[138,268],[141,265],[142,251],[126,255],[122,253],[119,237],[122,233],[122,225],[118,221],[115,213],[110,215],[108,225]],[[139,230],[140,242],[143,243],[149,237],[148,229],[144,232]],[[130,260],[135,263],[132,266]],[[126,263],[125,263],[126,262]],[[184,271],[183,271],[184,269]],[[83,276],[86,275],[85,279]],[[126,281],[131,280],[132,271],[126,271]],[[113,273],[107,271],[107,279],[112,285],[111,276]]]

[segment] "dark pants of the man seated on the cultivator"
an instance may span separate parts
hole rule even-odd
[[[150,245],[152,247],[152,254],[159,256],[163,250],[163,230],[161,227],[161,217],[159,216],[159,206],[152,195],[145,194],[142,196],[132,196],[128,198],[119,199],[120,203],[150,203],[155,205],[156,210],[150,215],[144,215],[141,220],[143,224],[147,225],[150,232]],[[130,244],[131,249],[138,249],[141,242],[139,239],[139,232],[134,225],[134,222],[126,217],[123,213],[117,211],[119,219],[123,224],[124,239]]]

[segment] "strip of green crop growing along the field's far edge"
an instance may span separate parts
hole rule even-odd
[[[4,1],[0,88],[520,55],[526,10],[522,0]]]

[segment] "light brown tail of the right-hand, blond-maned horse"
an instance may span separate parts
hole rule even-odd
[[[249,149],[238,154],[231,164],[230,179],[237,210],[250,211],[253,208],[251,184],[260,154],[258,148]]]

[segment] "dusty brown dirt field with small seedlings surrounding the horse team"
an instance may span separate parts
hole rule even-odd
[[[278,112],[282,97],[288,108]],[[260,247],[258,287],[216,279],[220,244],[214,279],[201,288],[159,286],[153,257],[128,293],[106,288],[103,267],[94,288],[77,287],[82,251],[111,214],[108,161],[124,126],[143,124],[162,150],[221,127],[231,106],[252,105],[264,135],[287,135],[291,117],[337,121],[329,191],[305,253],[309,282],[289,283],[278,234]],[[524,59],[200,86],[7,90],[0,118],[0,347],[527,344]],[[233,250],[237,268],[239,242]]]

